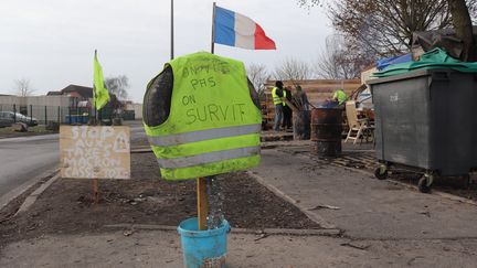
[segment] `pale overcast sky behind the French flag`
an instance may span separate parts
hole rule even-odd
[[[176,0],[176,56],[210,51],[212,2]],[[215,53],[271,69],[287,57],[312,62],[331,34],[320,8],[296,0],[218,0],[255,20],[276,51],[215,45]],[[126,75],[130,98],[142,101],[146,84],[170,56],[169,0],[18,0],[0,4],[0,94],[28,78],[36,95],[70,84],[91,86],[93,55],[105,76]]]

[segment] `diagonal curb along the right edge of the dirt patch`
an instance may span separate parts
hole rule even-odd
[[[309,207],[303,207],[303,206],[300,206],[299,202],[297,202],[296,200],[294,200],[289,195],[285,194],[284,192],[282,192],[276,186],[267,183],[262,176],[253,173],[252,171],[246,171],[246,173],[250,176],[252,176],[253,179],[255,179],[259,184],[262,184],[263,186],[265,186],[266,189],[268,189],[269,191],[272,191],[276,196],[285,200],[288,203],[292,203],[300,212],[303,212],[305,215],[307,215],[308,218],[310,218],[315,223],[319,224],[324,229],[338,229],[336,225],[328,223],[325,218],[322,218],[318,214],[308,211]]]

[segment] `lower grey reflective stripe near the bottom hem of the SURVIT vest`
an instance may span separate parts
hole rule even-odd
[[[258,153],[259,147],[245,147],[216,152],[205,152],[183,158],[158,159],[158,163],[163,169],[189,168],[222,160],[252,157]]]

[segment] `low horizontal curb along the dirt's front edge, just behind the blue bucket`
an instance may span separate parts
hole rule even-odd
[[[177,226],[156,225],[156,224],[109,224],[104,225],[105,228],[112,229],[139,229],[139,231],[166,231],[177,232]],[[247,235],[292,235],[292,236],[337,236],[341,234],[340,229],[280,229],[280,228],[264,228],[264,229],[247,229],[232,228],[234,234]]]

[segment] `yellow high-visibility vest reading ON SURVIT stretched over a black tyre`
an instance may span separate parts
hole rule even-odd
[[[248,85],[242,62],[206,52],[172,60],[149,82],[144,125],[163,179],[259,163],[262,114]]]

